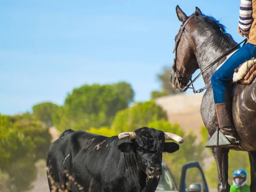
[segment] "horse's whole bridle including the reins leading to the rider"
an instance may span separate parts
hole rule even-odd
[[[229,55],[231,52],[234,51],[234,49],[236,49],[237,47],[239,47],[243,42],[244,44],[246,44],[247,39],[244,39],[241,43],[235,45],[234,47],[232,47],[230,50],[228,50],[227,52],[225,52],[223,55],[221,55],[219,58],[217,58],[215,61],[213,61],[211,64],[209,64],[204,70],[201,70],[201,73],[198,74],[198,76],[195,77],[195,79],[188,79],[187,77],[183,76],[178,70],[177,70],[177,49],[178,49],[178,45],[180,43],[180,38],[185,30],[185,27],[187,25],[187,23],[189,22],[189,20],[191,18],[195,17],[195,15],[191,15],[185,22],[183,25],[180,26],[180,30],[178,32],[177,38],[175,40],[175,47],[173,49],[172,53],[175,53],[175,58],[173,60],[173,65],[172,65],[172,70],[173,73],[175,74],[175,78],[176,81],[178,81],[178,86],[179,86],[179,90],[180,92],[185,92],[187,89],[193,89],[193,93],[201,93],[202,91],[204,91],[206,89],[206,87],[203,87],[199,90],[195,90],[195,87],[193,86],[193,83],[209,68],[211,68],[214,64],[216,64],[218,61],[220,61],[222,58],[224,58],[225,56]],[[243,44],[243,46],[244,46]],[[190,80],[190,83],[187,84],[185,87],[181,88],[180,87],[180,82],[181,83],[185,83],[188,82]],[[190,87],[192,86],[192,87]]]

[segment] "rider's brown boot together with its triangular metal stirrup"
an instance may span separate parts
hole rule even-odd
[[[231,121],[230,103],[215,104],[218,119],[217,131],[206,143],[206,147],[233,147],[239,145]],[[220,131],[219,131],[220,130]]]

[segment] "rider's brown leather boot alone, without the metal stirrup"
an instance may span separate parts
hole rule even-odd
[[[233,123],[231,121],[230,103],[225,102],[215,104],[215,110],[217,113],[218,125],[221,132],[224,134],[225,137],[227,137],[232,145],[237,145],[237,139],[236,135],[234,134]]]

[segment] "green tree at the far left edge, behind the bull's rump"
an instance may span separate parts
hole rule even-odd
[[[51,136],[38,120],[24,116],[0,115],[0,177],[8,187],[3,191],[23,192],[35,180],[35,162],[47,157]],[[3,185],[4,184],[4,185]]]

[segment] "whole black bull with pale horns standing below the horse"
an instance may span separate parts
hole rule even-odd
[[[163,152],[179,149],[177,143],[165,140],[183,143],[181,137],[154,128],[113,137],[67,130],[49,148],[47,175],[65,186],[67,170],[85,192],[154,192],[162,174]],[[74,182],[69,188],[79,191]]]

